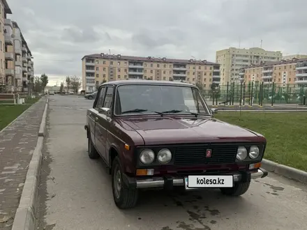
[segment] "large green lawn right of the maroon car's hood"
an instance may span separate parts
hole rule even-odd
[[[264,158],[307,171],[307,113],[220,112],[215,117],[267,138]]]

